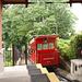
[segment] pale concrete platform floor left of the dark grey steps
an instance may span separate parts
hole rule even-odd
[[[0,82],[31,82],[26,66],[5,67],[0,72]]]

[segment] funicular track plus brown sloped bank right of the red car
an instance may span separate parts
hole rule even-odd
[[[47,68],[47,70],[49,72],[54,72],[60,81],[65,81],[65,82],[80,82],[78,80],[70,80],[70,79],[67,78],[67,74],[69,74],[71,67],[69,66],[69,63],[66,60],[62,59],[62,57],[59,58],[59,62],[60,62],[59,68],[50,67],[50,68]],[[66,72],[63,69],[69,71],[69,72]],[[65,74],[63,71],[67,74]]]

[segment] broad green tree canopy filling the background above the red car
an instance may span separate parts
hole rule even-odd
[[[24,5],[5,5],[2,11],[2,39],[7,46],[14,44],[20,48],[31,39],[30,35],[55,33],[56,24],[58,24],[58,34],[63,37],[69,32],[74,33],[75,20],[68,4],[35,3],[30,4],[27,9]]]

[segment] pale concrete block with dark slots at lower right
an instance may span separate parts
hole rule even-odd
[[[74,80],[82,82],[82,59],[71,60],[71,75]]]

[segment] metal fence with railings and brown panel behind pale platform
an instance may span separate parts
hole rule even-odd
[[[20,56],[21,56],[20,51],[15,45],[12,45],[11,48],[4,49],[3,51],[4,67],[15,66]]]

